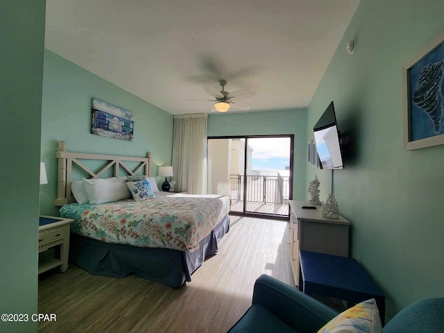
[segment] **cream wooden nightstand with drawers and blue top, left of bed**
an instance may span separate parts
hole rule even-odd
[[[39,274],[60,266],[60,271],[68,269],[69,223],[73,219],[40,215],[39,221]],[[60,246],[60,258],[40,255],[49,248]]]

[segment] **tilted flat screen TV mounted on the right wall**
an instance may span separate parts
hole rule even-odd
[[[313,130],[321,169],[343,169],[339,130],[333,102],[328,105]]]

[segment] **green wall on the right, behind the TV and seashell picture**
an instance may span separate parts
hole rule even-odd
[[[345,169],[307,168],[307,184],[317,174],[323,200],[333,184],[352,223],[351,254],[384,289],[388,318],[444,296],[444,146],[403,150],[401,78],[402,65],[443,31],[443,13],[442,0],[361,1],[308,108],[308,139],[330,101],[350,137]]]

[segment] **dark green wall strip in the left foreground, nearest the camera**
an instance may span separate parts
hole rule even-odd
[[[44,0],[0,2],[0,314],[37,313],[44,15]],[[0,332],[37,323],[0,321]]]

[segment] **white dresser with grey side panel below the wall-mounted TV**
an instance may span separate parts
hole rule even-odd
[[[327,255],[348,257],[348,233],[350,222],[322,217],[322,206],[316,210],[303,209],[301,206],[314,206],[307,201],[289,200],[289,248],[291,267],[296,286],[299,286],[299,250],[307,250]]]

